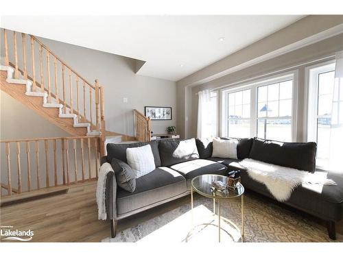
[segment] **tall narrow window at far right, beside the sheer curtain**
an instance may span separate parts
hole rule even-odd
[[[317,166],[327,169],[330,154],[331,112],[335,64],[309,69],[307,140],[317,143]]]

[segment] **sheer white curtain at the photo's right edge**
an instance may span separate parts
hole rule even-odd
[[[343,51],[336,53],[330,130],[329,170],[343,173]]]

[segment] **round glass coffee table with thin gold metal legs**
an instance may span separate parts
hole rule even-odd
[[[235,197],[241,197],[241,240],[243,241],[244,237],[244,186],[241,183],[237,184],[235,189],[228,188],[224,189],[223,191],[213,190],[211,183],[214,181],[221,181],[224,184],[227,184],[228,178],[224,175],[214,175],[214,174],[204,174],[199,175],[196,178],[191,180],[191,212],[192,212],[192,227],[193,227],[193,191],[196,193],[213,199],[213,215],[215,215],[215,201],[217,201],[217,212],[218,212],[218,240],[220,242],[220,220],[222,219],[220,213],[220,204],[222,201],[230,200]],[[228,219],[226,219],[228,221]],[[233,224],[232,221],[228,221],[236,228],[237,226]],[[237,228],[238,229],[238,228]]]

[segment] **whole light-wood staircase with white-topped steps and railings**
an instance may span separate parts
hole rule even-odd
[[[2,38],[1,38],[2,39]],[[71,134],[0,140],[0,195],[7,203],[97,180],[106,143],[150,141],[150,119],[134,110],[135,136],[106,131],[104,88],[91,84],[38,38],[3,29],[0,89]],[[10,47],[9,47],[10,46]],[[2,169],[3,167],[1,167]],[[50,190],[50,189],[49,189]],[[62,191],[63,191],[62,190]],[[56,193],[55,190],[53,190]],[[20,196],[22,193],[29,195]],[[7,200],[6,200],[7,201]]]

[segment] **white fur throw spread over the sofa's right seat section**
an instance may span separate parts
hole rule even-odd
[[[287,201],[294,189],[303,183],[336,184],[333,180],[327,179],[325,172],[309,173],[252,159],[244,159],[239,164],[246,168],[250,178],[265,184],[278,201]]]

